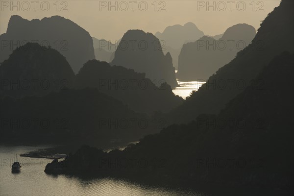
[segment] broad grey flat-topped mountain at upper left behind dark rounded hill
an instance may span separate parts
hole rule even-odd
[[[28,21],[20,16],[11,16],[6,33],[0,36],[0,62],[7,59],[13,49],[27,42],[51,46],[64,55],[75,73],[88,60],[95,59],[93,40],[90,34],[61,16]]]

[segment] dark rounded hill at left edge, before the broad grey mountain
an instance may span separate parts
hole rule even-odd
[[[1,97],[42,96],[74,85],[74,73],[55,49],[27,43],[15,49],[0,66]]]

